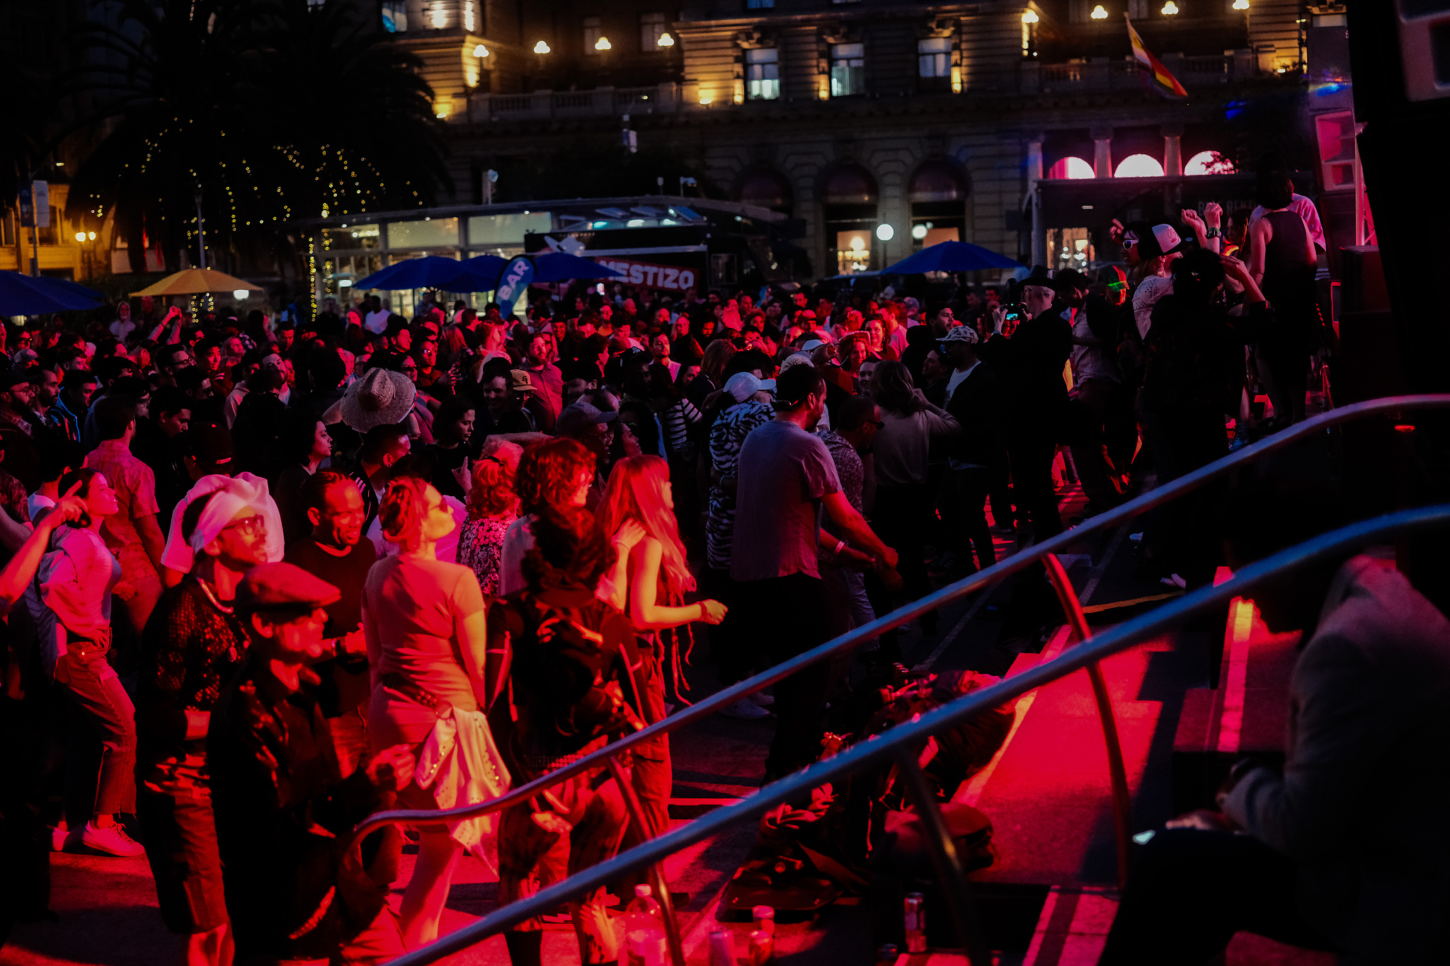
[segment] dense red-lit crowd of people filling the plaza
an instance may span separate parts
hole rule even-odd
[[[940,301],[590,282],[522,319],[358,294],[6,329],[9,908],[45,912],[46,849],[145,853],[190,963],[386,962],[436,936],[464,850],[496,847],[508,901],[664,831],[661,737],[628,772],[648,828],[605,769],[423,827],[396,915],[400,834],[347,847],[661,720],[699,624],[740,681],[1060,533],[1063,472],[1096,513],[1225,453],[1253,381],[1302,417],[1317,217],[1282,171],[1259,200],[1248,261],[1211,204],[1196,239],[1118,226],[1127,271]],[[1151,520],[1154,575],[1209,579],[1196,536]],[[729,708],[776,717],[766,781],[821,755],[840,686],[822,663]],[[586,963],[619,954],[606,895],[570,905]]]

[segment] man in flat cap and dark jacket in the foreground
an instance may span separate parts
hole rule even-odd
[[[254,568],[236,588],[251,649],[206,737],[216,840],[238,963],[400,956],[403,936],[368,876],[352,827],[412,781],[397,744],[348,778],[338,770],[307,668],[325,655],[322,608],[338,588],[291,563]]]

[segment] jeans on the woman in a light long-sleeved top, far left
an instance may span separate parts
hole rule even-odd
[[[71,642],[55,665],[57,684],[100,731],[97,815],[136,811],[136,708],[106,660],[107,650],[106,644]]]

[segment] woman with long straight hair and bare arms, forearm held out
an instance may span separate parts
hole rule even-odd
[[[625,568],[625,587],[616,587],[610,598],[625,611],[629,623],[639,634],[639,659],[644,665],[638,672],[637,691],[644,702],[648,724],[664,718],[664,642],[658,631],[671,636],[671,672],[676,694],[683,681],[680,675],[679,631],[674,629],[692,624],[718,624],[725,618],[725,605],[719,601],[697,601],[686,604],[684,595],[695,591],[695,575],[684,559],[684,545],[674,520],[674,492],[670,488],[670,465],[660,456],[626,456],[615,463],[605,487],[597,510],[605,533],[616,533],[625,523],[634,520],[644,527],[645,536],[629,550]],[[683,700],[683,698],[682,698]],[[639,794],[645,815],[652,826],[652,834],[660,836],[670,828],[670,739],[661,734],[634,749],[635,765],[632,784]],[[625,839],[625,847],[634,844],[634,828]]]

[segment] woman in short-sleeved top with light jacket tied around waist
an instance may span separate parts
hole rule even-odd
[[[420,762],[399,789],[397,807],[454,808],[499,795],[509,773],[484,714],[502,691],[505,655],[487,650],[473,571],[435,558],[438,540],[455,526],[452,513],[436,488],[405,476],[389,484],[378,520],[384,539],[400,550],[373,565],[362,587],[373,672],[368,740],[374,752],[407,744]],[[429,760],[434,769],[425,766]],[[409,949],[438,937],[458,857],[486,831],[486,818],[420,830],[418,865],[399,910]]]

